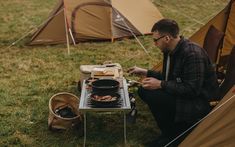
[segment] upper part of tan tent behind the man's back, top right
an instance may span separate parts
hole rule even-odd
[[[193,34],[190,40],[203,46],[204,38],[210,25],[214,25],[218,30],[225,33],[221,55],[229,55],[235,44],[235,0],[231,0],[219,14]]]

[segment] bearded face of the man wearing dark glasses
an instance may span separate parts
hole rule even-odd
[[[159,32],[153,32],[153,41],[155,46],[157,46],[162,52],[167,50],[166,35],[161,35]]]

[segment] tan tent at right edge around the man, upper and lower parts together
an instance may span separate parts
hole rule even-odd
[[[203,46],[204,38],[210,25],[215,26],[218,30],[225,33],[221,56],[230,55],[235,45],[235,0],[231,0],[219,14],[193,34],[190,39]],[[210,115],[208,115],[179,146],[235,146],[234,112],[235,86],[230,89],[220,103],[212,110]]]

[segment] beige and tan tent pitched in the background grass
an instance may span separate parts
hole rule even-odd
[[[149,34],[161,18],[149,0],[60,0],[30,44],[113,41]]]

